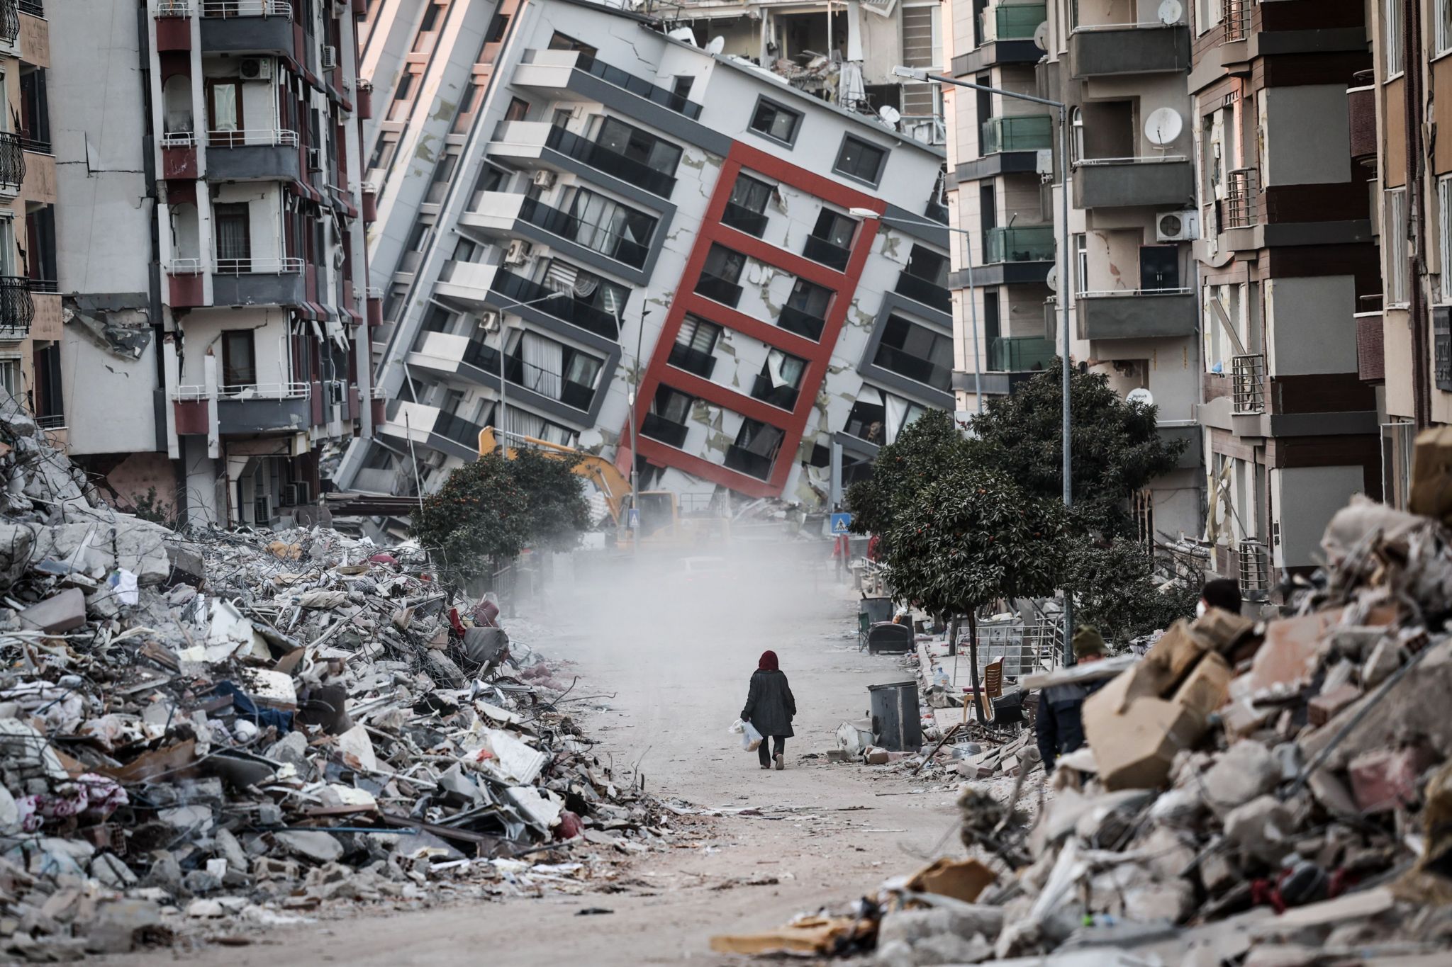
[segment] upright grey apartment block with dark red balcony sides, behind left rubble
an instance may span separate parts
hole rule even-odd
[[[277,523],[369,425],[362,13],[52,10],[67,442],[123,505]]]

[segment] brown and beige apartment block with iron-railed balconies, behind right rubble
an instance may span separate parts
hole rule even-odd
[[[1314,568],[1355,493],[1379,497],[1359,310],[1381,294],[1346,88],[1371,67],[1361,0],[1191,9],[1208,526],[1250,597]]]

